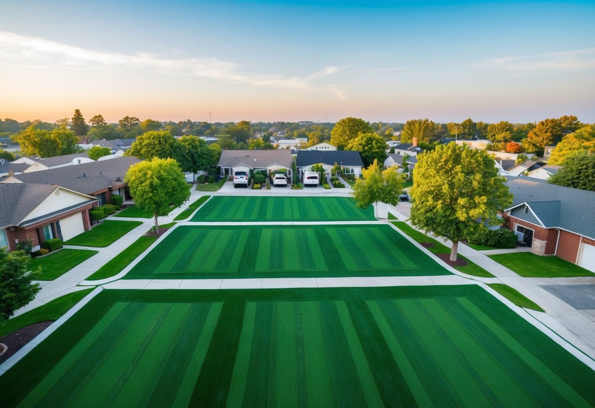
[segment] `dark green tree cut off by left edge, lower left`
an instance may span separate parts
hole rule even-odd
[[[40,268],[27,274],[30,257],[24,251],[6,252],[0,248],[0,325],[4,324],[15,310],[26,306],[41,290],[32,283],[41,274]]]

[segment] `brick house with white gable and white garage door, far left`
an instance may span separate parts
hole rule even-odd
[[[55,184],[0,184],[0,247],[32,240],[35,250],[52,238],[68,240],[89,230],[96,198]]]

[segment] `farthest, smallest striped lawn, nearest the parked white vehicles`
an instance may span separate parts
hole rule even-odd
[[[350,197],[214,196],[190,221],[369,221],[374,209]]]

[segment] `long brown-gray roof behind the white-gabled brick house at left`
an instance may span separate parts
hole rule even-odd
[[[114,184],[121,184],[122,181],[115,181],[115,179],[120,177],[120,180],[124,180],[130,166],[140,161],[133,156],[123,156],[76,166],[17,174],[14,178],[23,183],[58,184],[67,189],[93,195]]]

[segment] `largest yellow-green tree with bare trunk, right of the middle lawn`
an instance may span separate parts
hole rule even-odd
[[[497,212],[512,203],[512,194],[486,150],[451,142],[417,158],[411,222],[451,240],[456,261],[459,241],[481,228],[478,220],[498,224]]]

